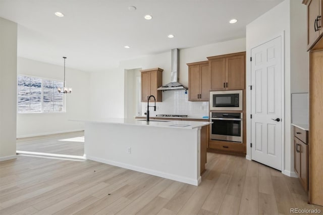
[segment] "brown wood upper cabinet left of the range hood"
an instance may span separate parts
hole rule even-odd
[[[163,69],[154,68],[141,70],[141,101],[147,102],[147,97],[153,95],[156,101],[163,101],[163,94],[161,90],[157,90],[158,87],[163,85]],[[150,98],[149,101],[153,101]]]

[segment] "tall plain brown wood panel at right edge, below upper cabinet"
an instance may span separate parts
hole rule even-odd
[[[309,53],[309,202],[323,206],[323,37]]]

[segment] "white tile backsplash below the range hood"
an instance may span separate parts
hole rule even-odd
[[[149,105],[153,105],[150,104]],[[142,102],[142,115],[147,110],[147,102]],[[149,109],[150,116],[157,114],[188,115],[201,118],[208,116],[208,101],[188,101],[185,90],[166,90],[163,92],[163,102],[156,102],[156,111]]]

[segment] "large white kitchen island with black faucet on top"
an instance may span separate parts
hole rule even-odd
[[[210,122],[82,120],[86,159],[198,185]],[[202,144],[201,144],[202,143]],[[202,157],[202,162],[201,162]]]

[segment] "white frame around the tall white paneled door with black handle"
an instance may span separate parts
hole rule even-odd
[[[247,85],[247,104],[246,104],[246,109],[247,109],[247,153],[246,153],[246,159],[251,160],[252,159],[252,153],[251,153],[251,131],[252,131],[252,123],[251,123],[251,119],[250,119],[250,114],[251,114],[251,108],[252,108],[252,100],[251,100],[251,90],[250,90],[250,84],[251,84],[251,62],[250,62],[250,57],[251,57],[251,50],[259,45],[262,45],[268,41],[271,41],[277,37],[281,37],[281,58],[282,58],[282,65],[281,65],[281,84],[282,84],[282,95],[281,95],[281,100],[282,100],[282,157],[281,157],[281,172],[284,174],[284,170],[285,170],[285,34],[284,32],[281,32],[280,34],[277,34],[275,36],[272,36],[271,38],[267,38],[265,39],[263,42],[259,42],[258,44],[254,44],[252,45],[252,47],[249,49],[249,53],[247,53],[247,64],[249,64],[249,70],[248,70],[248,75],[247,75],[247,81],[249,84],[249,86]]]

